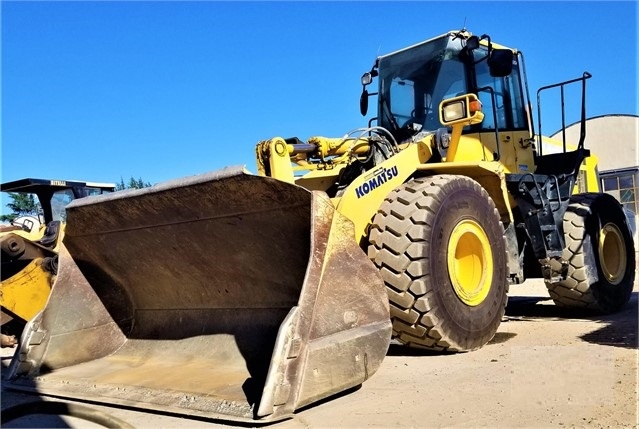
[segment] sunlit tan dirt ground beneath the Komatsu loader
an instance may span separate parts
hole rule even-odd
[[[635,286],[630,304],[615,315],[567,318],[543,282],[512,286],[505,320],[482,349],[438,355],[392,344],[379,371],[361,388],[267,428],[637,428],[638,292]],[[2,349],[3,356],[11,351]],[[3,383],[2,410],[34,398]],[[237,426],[91,407],[139,428]],[[31,415],[3,427],[100,426]]]

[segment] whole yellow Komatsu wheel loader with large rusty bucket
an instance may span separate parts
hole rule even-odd
[[[376,117],[343,137],[261,141],[257,175],[74,201],[11,385],[271,422],[359,386],[391,339],[482,347],[526,278],[560,306],[622,308],[633,242],[584,145],[589,78],[538,91],[540,110],[581,89],[579,142],[551,141],[521,51],[451,31],[377,58]]]

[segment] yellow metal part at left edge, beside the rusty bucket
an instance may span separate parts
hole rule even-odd
[[[16,275],[0,283],[0,304],[28,321],[44,308],[53,274],[42,266],[42,258],[31,261]]]

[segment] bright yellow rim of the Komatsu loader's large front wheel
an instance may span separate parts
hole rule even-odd
[[[459,299],[466,305],[481,304],[490,290],[493,255],[484,229],[473,220],[455,226],[448,241],[448,275]]]

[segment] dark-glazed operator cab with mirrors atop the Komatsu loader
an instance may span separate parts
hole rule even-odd
[[[484,120],[464,133],[529,130],[519,58],[496,48],[488,36],[449,32],[377,59],[362,78],[361,111],[366,114],[372,77],[379,76],[378,125],[397,141],[442,128],[443,100],[473,93],[482,103]]]

